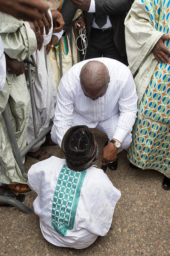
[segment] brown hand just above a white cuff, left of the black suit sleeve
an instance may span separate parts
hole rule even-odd
[[[58,10],[51,10],[53,17],[53,32],[60,32],[64,28],[64,20],[62,14]]]

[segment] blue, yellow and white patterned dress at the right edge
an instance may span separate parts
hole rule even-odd
[[[170,35],[170,0],[143,3],[154,29]],[[170,49],[170,40],[164,45]],[[139,168],[158,170],[170,178],[170,64],[157,63],[154,69],[139,104],[128,159]]]

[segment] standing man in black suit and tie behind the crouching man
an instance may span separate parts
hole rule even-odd
[[[88,48],[85,59],[107,57],[128,65],[124,20],[134,0],[65,0],[62,6],[67,31],[77,8],[83,10]],[[69,15],[68,15],[69,13]],[[103,16],[106,24],[99,21]],[[104,25],[103,25],[104,24]],[[102,26],[103,25],[103,26]]]

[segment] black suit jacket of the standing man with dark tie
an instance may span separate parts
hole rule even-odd
[[[109,15],[109,19],[113,27],[113,40],[115,45],[121,56],[126,54],[124,20],[133,2],[134,0],[95,0],[96,13],[83,12],[86,22],[86,36],[88,39],[87,54],[90,52],[90,32],[94,17],[101,15]],[[68,30],[76,10],[76,6],[74,6],[70,0],[64,1],[61,8],[61,14],[63,15],[65,22],[65,31]]]

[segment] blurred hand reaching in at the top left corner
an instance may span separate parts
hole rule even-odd
[[[34,21],[42,18],[48,9],[39,0],[0,0],[0,11],[18,19]]]

